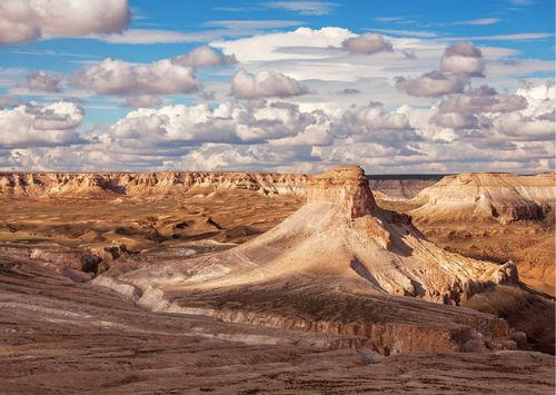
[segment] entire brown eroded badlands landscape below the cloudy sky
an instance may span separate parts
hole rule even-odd
[[[2,393],[554,393],[553,174],[0,174]]]

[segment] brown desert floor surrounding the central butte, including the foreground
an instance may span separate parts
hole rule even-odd
[[[378,198],[378,205],[415,208],[399,199],[413,196],[394,194],[395,200]],[[416,221],[446,250],[517,264],[520,287],[496,286],[466,307],[447,308],[507,319],[526,333],[526,350],[380,355],[335,348],[330,344],[346,336],[156,313],[91,282],[120,261],[123,267],[226,251],[274,228],[305,200],[203,188],[156,199],[0,198],[0,392],[554,393],[549,219],[505,226]],[[239,303],[240,296],[235,302],[224,295],[218,303]]]

